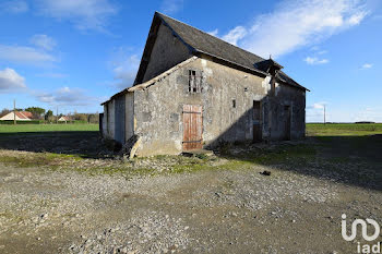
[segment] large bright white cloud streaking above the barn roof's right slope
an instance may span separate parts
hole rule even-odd
[[[244,36],[238,36],[237,43],[262,57],[278,57],[360,24],[368,14],[363,3],[361,0],[284,0],[273,13],[241,26],[240,35]]]

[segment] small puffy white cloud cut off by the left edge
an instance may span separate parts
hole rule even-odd
[[[0,93],[26,88],[25,78],[13,69],[0,70]]]

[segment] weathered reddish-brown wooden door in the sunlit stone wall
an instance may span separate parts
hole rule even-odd
[[[183,105],[183,150],[203,148],[203,108]]]

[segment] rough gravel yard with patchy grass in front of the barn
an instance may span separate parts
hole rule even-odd
[[[44,166],[44,154],[2,149],[0,253],[357,253],[366,242],[342,239],[341,216],[382,223],[381,146],[344,159],[320,144],[309,159],[271,153],[271,165],[220,156]],[[186,162],[202,170],[172,170]],[[126,173],[142,168],[150,173]]]

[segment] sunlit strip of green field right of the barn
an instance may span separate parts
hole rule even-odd
[[[308,123],[307,134],[310,136],[363,136],[382,134],[382,123]]]

